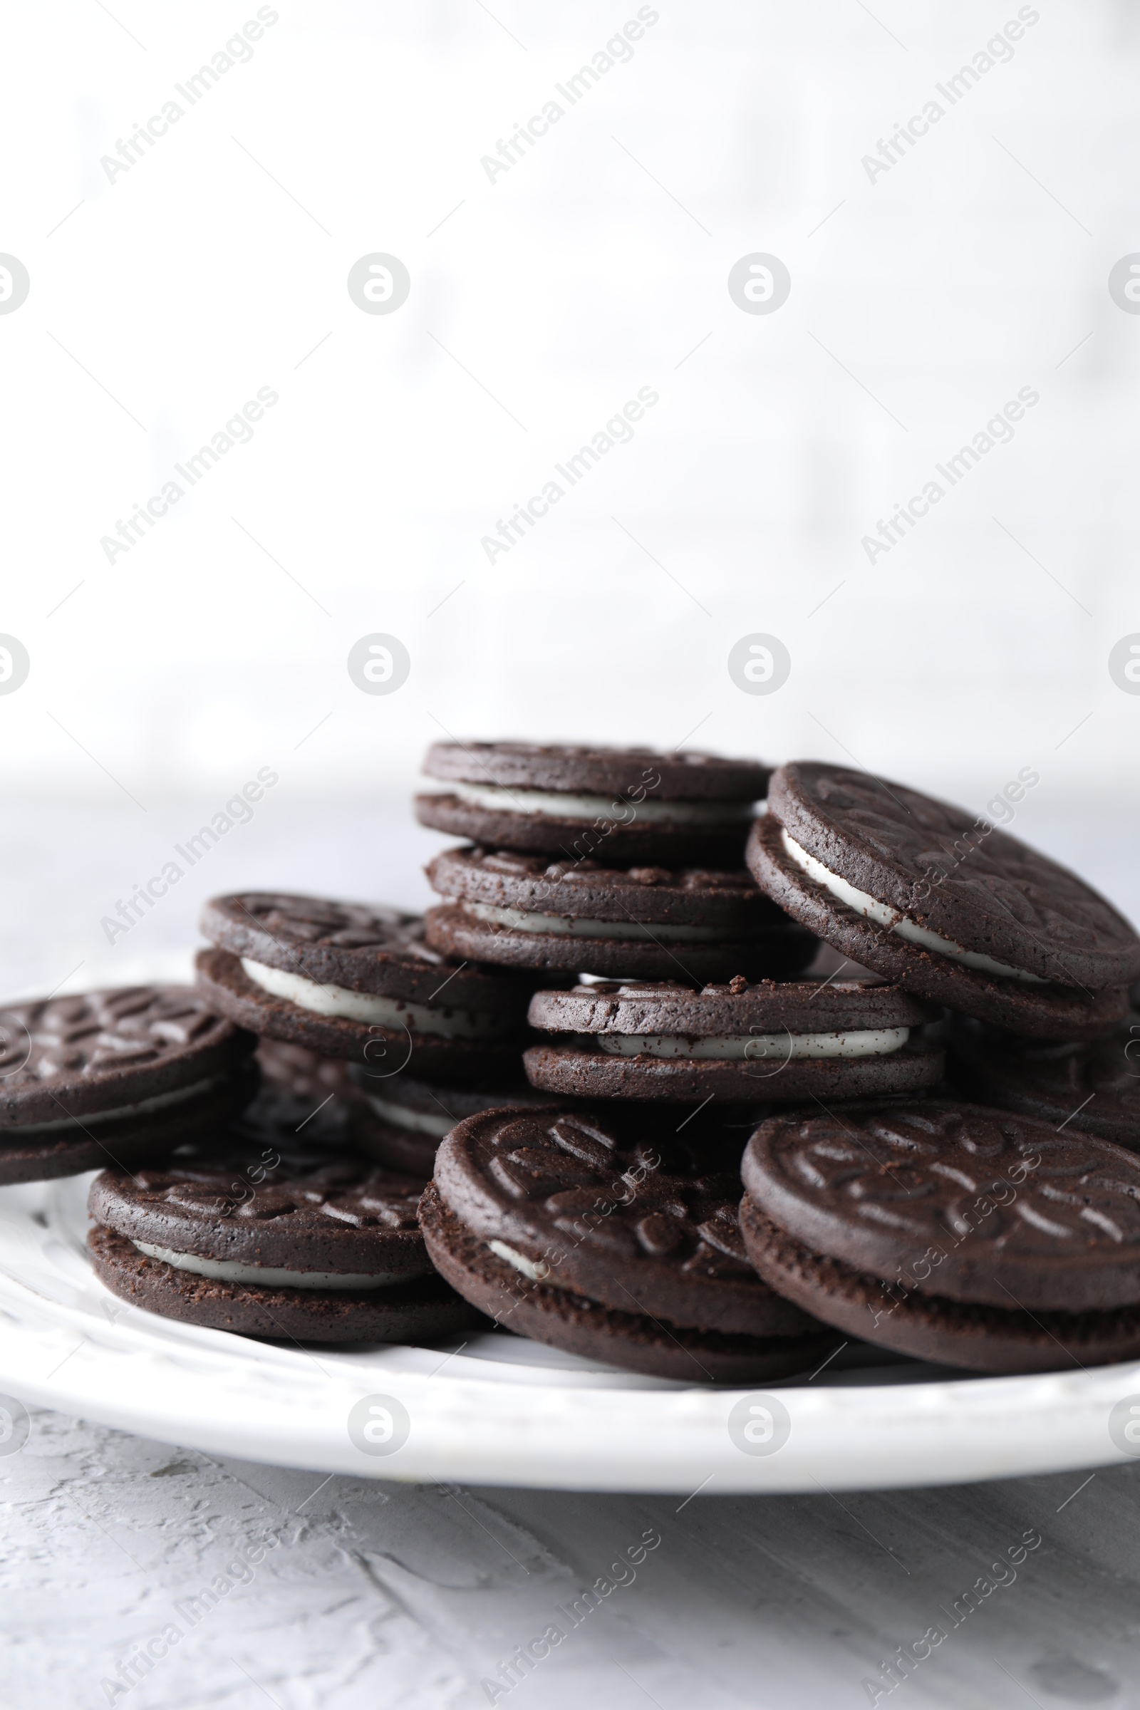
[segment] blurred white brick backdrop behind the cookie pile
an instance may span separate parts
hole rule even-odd
[[[31,279],[0,313],[0,631],[31,658],[0,696],[7,995],[181,970],[238,882],[426,901],[439,840],[407,795],[444,732],[846,756],[974,811],[1031,766],[1014,829],[1140,915],[1140,696],[1108,669],[1140,631],[1140,316],[1108,289],[1140,250],[1138,12],[5,7],[0,251]],[[248,56],[176,91],[258,15]],[[555,86],[639,15],[571,106]],[[349,296],[376,251],[410,274],[393,313]],[[774,313],[728,292],[757,251],[791,275]],[[174,465],[260,388],[253,438],[190,487]],[[489,563],[641,388],[634,438]],[[935,465],[1022,388],[950,489]],[[393,694],[349,677],[371,633],[410,653]],[[750,633],[790,652],[778,693],[728,674]],[[253,823],[109,946],[99,918],[258,768]]]

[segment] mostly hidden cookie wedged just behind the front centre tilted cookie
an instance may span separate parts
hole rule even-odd
[[[400,1074],[369,1082],[367,1070],[354,1067],[354,1091],[364,1106],[352,1122],[352,1144],[391,1170],[407,1170],[426,1182],[444,1134],[482,1110],[550,1110],[569,1100],[535,1093],[526,1081],[508,1079],[453,1088],[441,1081],[419,1081]]]

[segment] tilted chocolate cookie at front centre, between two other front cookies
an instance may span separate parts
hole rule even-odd
[[[810,1371],[834,1337],[750,1269],[737,1197],[665,1141],[496,1110],[441,1142],[420,1226],[439,1274],[533,1341],[690,1383]]]

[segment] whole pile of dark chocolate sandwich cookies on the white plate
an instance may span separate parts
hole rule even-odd
[[[297,1341],[489,1313],[696,1383],[853,1336],[983,1371],[1140,1354],[1140,939],[1075,874],[819,763],[766,807],[766,766],[713,756],[427,771],[420,821],[470,841],[426,920],[215,898],[197,994],[0,1023],[0,1182],[111,1163],[115,1293]]]

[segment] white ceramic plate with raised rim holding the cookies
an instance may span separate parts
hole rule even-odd
[[[1109,1414],[1128,1397],[1140,1416],[1140,1363],[964,1378],[851,1347],[810,1380],[750,1392],[631,1377],[504,1334],[255,1342],[109,1294],[84,1252],[89,1182],[0,1188],[0,1390],[207,1454],[554,1489],[882,1489],[1125,1460]]]

